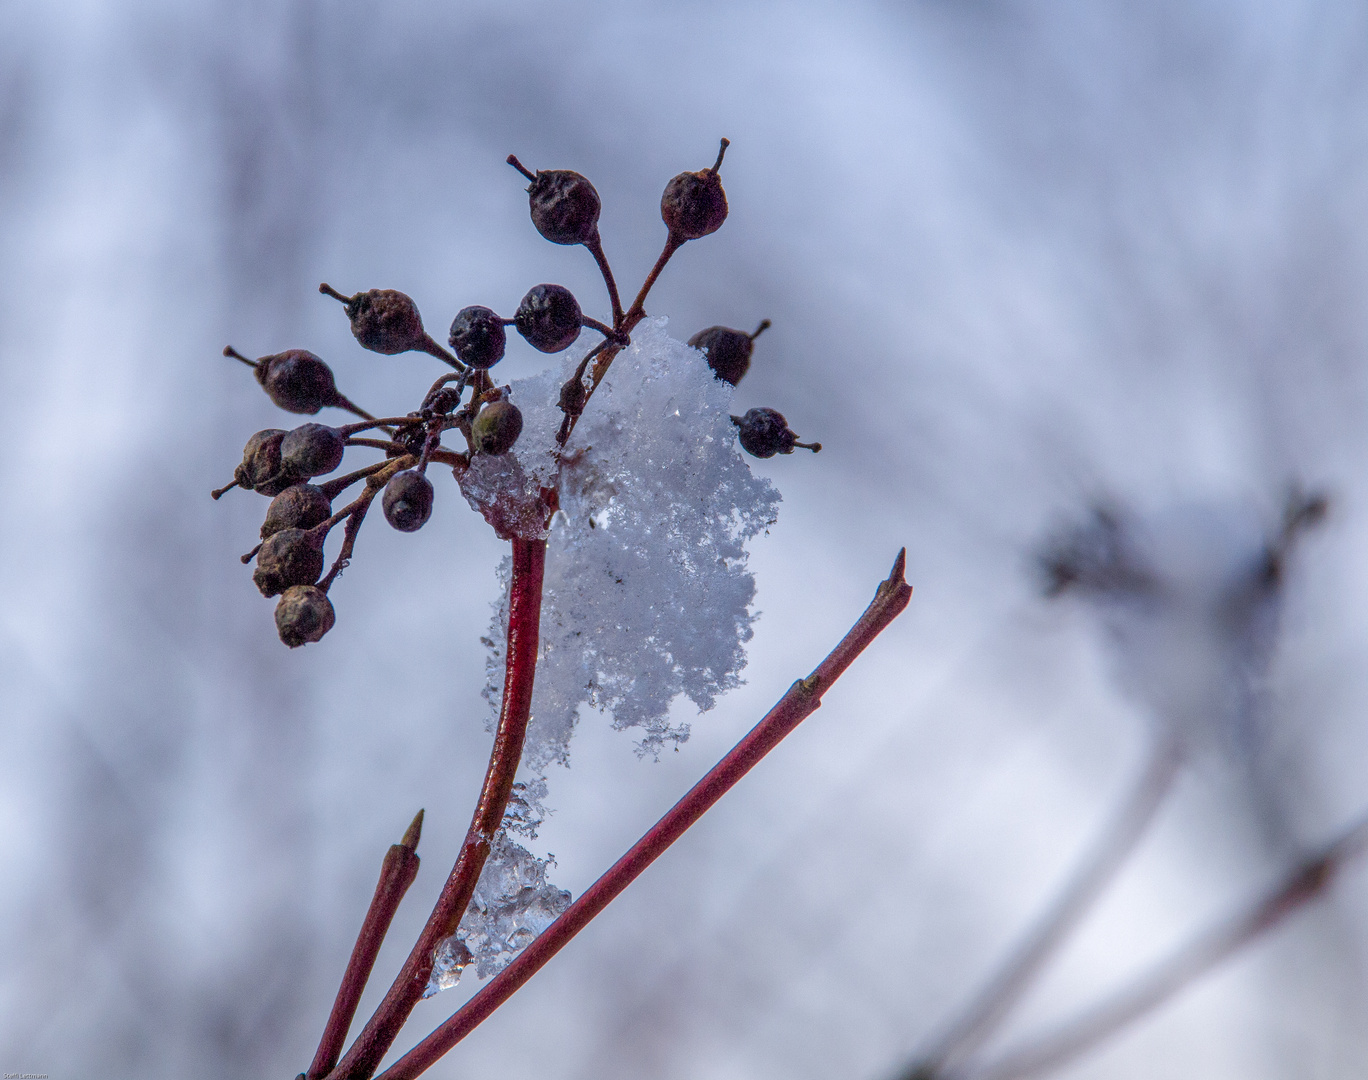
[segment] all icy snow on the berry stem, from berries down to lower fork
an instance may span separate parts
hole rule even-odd
[[[564,382],[587,345],[558,367],[509,387],[523,434],[501,457],[476,456],[461,478],[471,505],[501,535],[547,539],[542,632],[521,780],[461,929],[438,950],[428,992],[475,964],[503,968],[569,903],[546,882],[547,862],[509,838],[536,836],[546,768],[565,762],[581,706],[642,732],[657,756],[688,738],[669,709],[687,697],[710,709],[740,683],[755,582],[746,542],[773,524],[778,493],[751,475],[731,420],[731,383],[703,356],[643,322],[590,400],[565,453],[555,454]],[[560,511],[547,528],[544,490]],[[490,728],[503,686],[508,582],[488,637]]]

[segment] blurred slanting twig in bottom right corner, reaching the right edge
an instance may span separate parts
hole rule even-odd
[[[1100,1005],[978,1069],[969,1080],[1018,1080],[1052,1072],[1157,1009],[1227,957],[1271,931],[1293,912],[1324,895],[1350,858],[1368,847],[1368,816],[1290,871],[1261,899],[1187,942],[1129,987]]]

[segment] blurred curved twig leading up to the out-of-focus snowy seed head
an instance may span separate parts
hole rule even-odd
[[[1119,812],[1064,886],[1053,905],[1026,934],[997,973],[936,1042],[904,1073],[904,1080],[930,1080],[952,1073],[1001,1024],[1030,988],[1049,958],[1067,940],[1108,882],[1126,864],[1155,820],[1182,761],[1178,741],[1160,735],[1144,772]]]

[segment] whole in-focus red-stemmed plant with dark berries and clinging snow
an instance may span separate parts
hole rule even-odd
[[[598,192],[579,172],[531,171],[532,223],[553,244],[583,245],[595,259],[610,319],[586,315],[560,285],[536,285],[512,318],[483,305],[462,308],[443,348],[416,304],[390,289],[345,294],[357,342],[371,352],[424,352],[450,371],[413,412],[375,416],[337,389],[332,370],[304,349],[250,360],[257,382],[282,409],[316,415],[339,408],[360,417],[328,426],[271,428],[248,439],[231,487],[271,497],[253,580],[279,597],[275,621],[290,647],[319,642],[335,626],[331,590],[354,554],[376,498],[386,520],[412,532],[430,519],[432,465],[451,470],[461,493],[510,545],[501,575],[505,598],[486,639],[494,745],[469,831],[425,927],[375,1014],[343,1053],[361,992],[394,913],[419,868],[419,812],[384,857],[380,882],[306,1080],[368,1080],[415,1005],[454,986],[473,965],[494,976],[450,1021],[383,1076],[424,1072],[550,960],[684,830],[821,704],[826,689],[906,608],[904,556],[874,601],[810,676],[799,679],[761,723],[579,899],[547,880],[514,835],[535,836],[546,808],[544,769],[565,758],[581,705],[610,710],[617,727],[642,728],[642,751],[658,753],[687,730],[668,723],[670,704],[700,709],[737,683],[751,635],[754,583],[746,541],[774,522],[778,496],[751,475],[737,443],[755,457],[789,454],[800,442],[773,408],[731,415],[755,338],[709,327],[685,345],[670,339],[646,301],[684,244],[717,231],[728,214],[720,170],[674,177],[661,197],[666,241],[624,308],[603,252]],[[499,386],[491,370],[508,327],[560,363]],[[579,345],[583,330],[596,335]],[[443,443],[454,433],[464,445]],[[380,460],[334,479],[349,449]],[[341,509],[334,501],[360,493]],[[324,548],[342,539],[324,574]],[[520,769],[524,779],[518,780]]]

